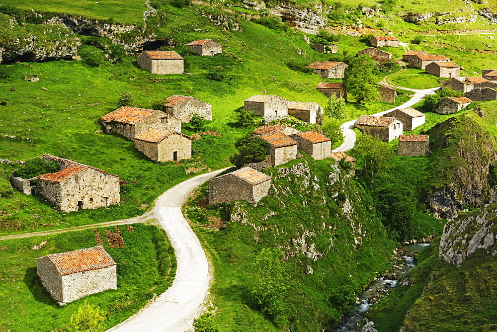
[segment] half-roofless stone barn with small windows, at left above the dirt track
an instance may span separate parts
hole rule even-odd
[[[38,176],[36,192],[57,210],[70,212],[119,204],[119,176],[51,155],[43,155],[43,159],[55,161],[60,170]]]

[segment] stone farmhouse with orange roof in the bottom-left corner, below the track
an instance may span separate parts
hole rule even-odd
[[[116,262],[102,246],[36,258],[36,273],[61,304],[117,289]]]

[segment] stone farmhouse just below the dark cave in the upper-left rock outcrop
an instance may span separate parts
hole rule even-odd
[[[136,62],[152,74],[183,74],[183,58],[174,51],[145,51]]]

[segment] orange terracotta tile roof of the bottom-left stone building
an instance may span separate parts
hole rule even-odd
[[[53,253],[36,259],[44,257],[50,259],[61,275],[97,270],[116,265],[114,259],[112,259],[102,246]]]

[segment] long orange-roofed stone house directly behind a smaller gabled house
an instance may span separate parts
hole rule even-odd
[[[156,109],[123,106],[100,118],[106,133],[133,140],[150,128],[181,131],[181,120]]]

